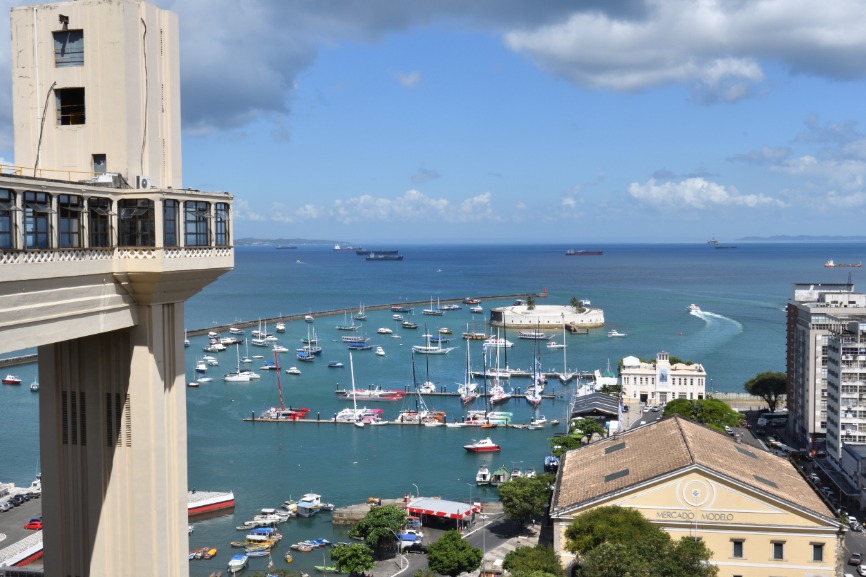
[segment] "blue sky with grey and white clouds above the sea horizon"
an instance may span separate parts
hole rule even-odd
[[[862,0],[153,3],[179,15],[184,186],[235,195],[235,238],[862,231]]]

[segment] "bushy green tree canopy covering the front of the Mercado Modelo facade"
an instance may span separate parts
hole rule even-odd
[[[715,577],[712,552],[701,541],[674,541],[634,509],[599,507],[566,528],[568,551],[581,557],[579,577]]]

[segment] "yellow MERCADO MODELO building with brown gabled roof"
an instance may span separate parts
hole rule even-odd
[[[567,452],[551,501],[554,549],[592,509],[639,511],[673,539],[701,539],[719,577],[834,577],[844,528],[786,459],[680,417]],[[579,553],[579,552],[577,552]]]

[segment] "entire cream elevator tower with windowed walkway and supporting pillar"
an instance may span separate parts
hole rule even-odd
[[[184,577],[184,303],[234,250],[233,197],[181,183],[177,18],[77,0],[11,35],[0,353],[38,348],[45,574]]]

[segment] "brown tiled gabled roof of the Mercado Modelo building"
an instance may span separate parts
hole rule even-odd
[[[580,505],[690,466],[834,516],[787,459],[676,416],[567,452],[553,508]]]

